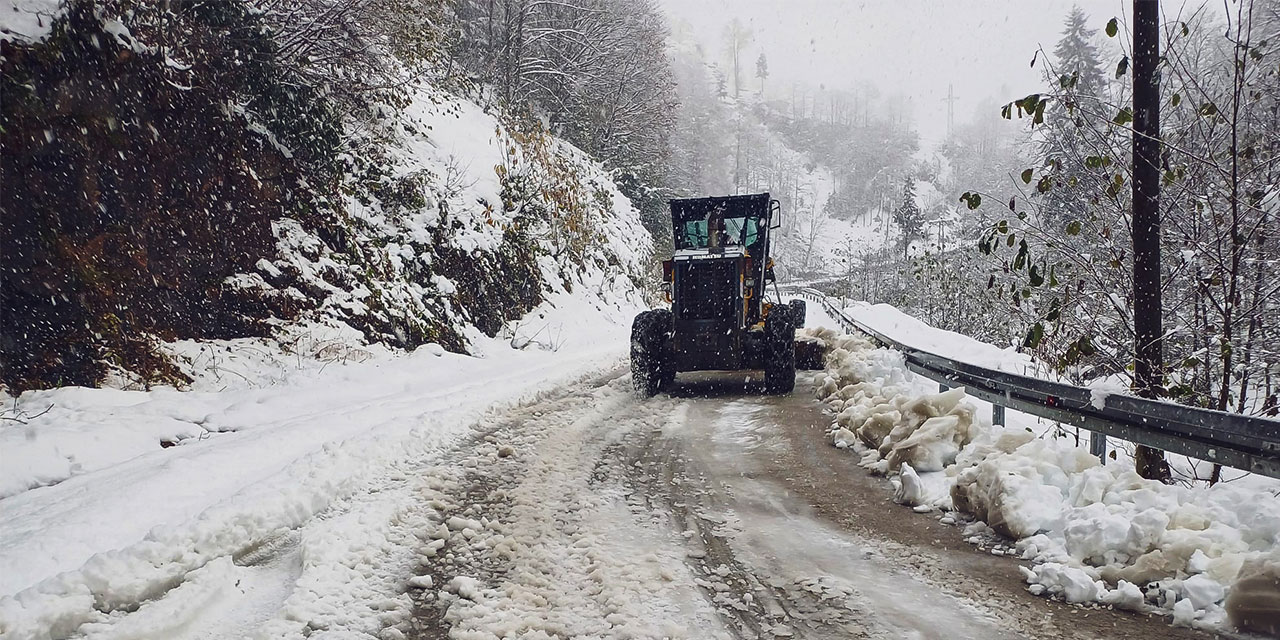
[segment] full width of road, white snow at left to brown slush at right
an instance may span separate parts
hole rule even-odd
[[[827,443],[810,374],[641,401],[607,351],[508,356],[184,397],[278,420],[0,500],[4,579],[33,585],[0,636],[1204,637],[1032,596],[1018,561],[892,504]]]

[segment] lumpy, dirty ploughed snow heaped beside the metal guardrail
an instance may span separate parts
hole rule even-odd
[[[1229,611],[1234,625],[1275,625],[1275,493],[1143,480],[1126,461],[1103,466],[1065,440],[975,420],[963,389],[929,393],[901,353],[851,335],[829,344],[817,393],[836,412],[831,442],[900,471],[899,502],[966,512],[984,522],[972,534],[1016,539],[1032,593],[1149,607],[1181,625],[1221,627]]]

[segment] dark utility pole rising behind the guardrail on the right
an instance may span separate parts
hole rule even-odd
[[[1160,3],[1133,0],[1133,385],[1143,398],[1164,387],[1160,301]],[[1138,445],[1138,475],[1169,481],[1164,452]]]

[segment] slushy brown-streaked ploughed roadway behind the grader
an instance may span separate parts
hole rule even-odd
[[[408,636],[1210,637],[1028,594],[1018,561],[893,504],[801,375],[616,371],[506,411],[419,480]]]

